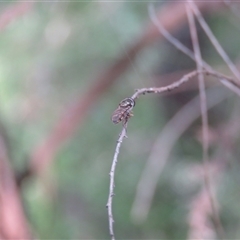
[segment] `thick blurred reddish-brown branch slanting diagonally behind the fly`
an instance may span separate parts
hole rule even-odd
[[[197,4],[201,9],[209,8],[209,3],[207,2],[197,2]],[[219,5],[215,4],[214,6]],[[186,22],[184,3],[166,4],[166,6],[159,11],[158,19],[161,20],[164,27],[170,32],[179,29],[180,25]],[[48,168],[58,149],[71,137],[74,130],[81,125],[92,105],[94,105],[111,84],[126,71],[131,64],[131,60],[135,58],[141,49],[161,37],[156,26],[150,22],[139,40],[128,48],[127,54],[121,56],[112,66],[98,75],[95,81],[93,81],[95,84],[86,92],[85,96],[80,98],[74,107],[66,110],[49,136],[33,150],[31,154],[30,172],[41,173]]]

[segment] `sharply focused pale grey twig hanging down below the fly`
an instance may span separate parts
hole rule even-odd
[[[108,195],[108,201],[107,201],[106,207],[108,209],[109,233],[110,233],[112,240],[115,240],[115,235],[114,235],[114,230],[113,230],[114,219],[113,219],[113,213],[112,213],[112,200],[113,200],[113,196],[114,196],[114,187],[115,187],[114,176],[115,176],[115,170],[116,170],[116,165],[117,165],[117,161],[118,161],[119,149],[121,147],[124,137],[127,136],[126,133],[127,133],[127,122],[123,125],[122,131],[117,140],[117,146],[116,146],[113,161],[112,161],[112,167],[111,167],[111,171],[109,173],[110,186],[109,186],[109,195]]]

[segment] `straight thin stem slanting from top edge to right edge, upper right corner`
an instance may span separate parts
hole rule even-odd
[[[191,6],[199,24],[201,25],[201,27],[203,28],[203,30],[207,34],[209,40],[211,41],[211,43],[213,44],[213,46],[215,47],[215,49],[217,50],[219,55],[222,57],[222,59],[225,61],[225,63],[228,65],[229,69],[232,71],[232,73],[238,79],[238,81],[240,81],[240,72],[238,71],[238,69],[236,68],[234,63],[231,61],[229,56],[226,54],[226,52],[223,50],[223,48],[220,45],[220,43],[218,42],[217,38],[212,33],[211,29],[209,28],[206,21],[204,20],[204,18],[202,16],[201,12],[199,11],[198,7],[196,6],[196,4],[194,2],[191,2],[190,6]]]

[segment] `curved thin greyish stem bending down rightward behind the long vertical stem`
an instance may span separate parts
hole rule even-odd
[[[149,9],[149,16],[152,20],[152,22],[155,24],[155,26],[157,27],[158,31],[174,46],[176,47],[178,50],[180,50],[181,52],[183,52],[184,54],[186,54],[188,57],[190,57],[193,61],[195,61],[195,56],[194,53],[188,49],[186,46],[184,46],[178,39],[174,38],[169,31],[167,31],[163,25],[161,24],[161,22],[159,21],[159,19],[156,16],[156,12],[153,8],[152,4],[149,4],[148,6]],[[202,61],[203,67],[208,70],[208,71],[214,71],[214,69],[205,61]],[[226,80],[224,77],[219,79],[221,81],[221,83],[229,88],[231,91],[235,92],[236,94],[238,94],[240,96],[240,89],[238,87],[238,83],[236,82],[229,82],[228,80]],[[236,87],[237,86],[237,87]]]

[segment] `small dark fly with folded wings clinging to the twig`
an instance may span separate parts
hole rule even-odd
[[[125,98],[120,103],[118,108],[112,114],[113,123],[117,124],[121,121],[126,122],[128,118],[132,117],[131,110],[135,106],[135,101],[132,98]]]

